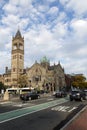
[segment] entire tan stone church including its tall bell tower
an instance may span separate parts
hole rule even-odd
[[[31,67],[24,69],[24,37],[18,29],[12,38],[11,69],[6,67],[5,74],[0,75],[0,81],[6,86],[18,87],[20,75],[27,76],[27,87],[54,91],[66,86],[64,69],[60,62],[50,65],[46,56],[39,63],[35,61]]]

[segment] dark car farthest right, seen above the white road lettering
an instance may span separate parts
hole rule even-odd
[[[84,99],[84,93],[81,90],[72,90],[69,95],[70,101]]]

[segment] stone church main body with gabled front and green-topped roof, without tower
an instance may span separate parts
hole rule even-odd
[[[60,63],[51,66],[46,57],[40,63],[35,62],[26,70],[28,86],[47,91],[55,91],[66,86],[64,69]]]

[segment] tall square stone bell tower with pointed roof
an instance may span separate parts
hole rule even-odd
[[[18,86],[19,75],[24,70],[24,37],[18,29],[15,37],[12,39],[11,52],[11,84],[14,87]]]

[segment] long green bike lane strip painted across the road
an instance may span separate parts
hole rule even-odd
[[[5,113],[1,113],[0,114],[0,123],[9,121],[9,120],[13,120],[31,113],[35,113],[62,103],[68,102],[68,100],[66,99],[60,99],[60,100],[56,100],[56,101],[49,101],[47,103],[42,103],[42,104],[38,104],[35,106],[31,106],[31,107],[26,107],[26,108],[21,108],[21,109],[17,109],[17,110],[13,110],[10,112],[5,112]]]

